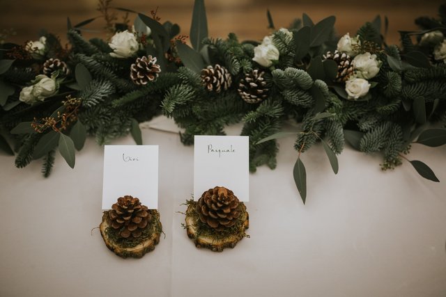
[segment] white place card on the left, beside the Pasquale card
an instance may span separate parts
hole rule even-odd
[[[132,195],[148,209],[158,207],[158,146],[105,145],[102,209]]]

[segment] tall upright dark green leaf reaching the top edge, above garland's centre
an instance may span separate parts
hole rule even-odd
[[[208,37],[208,20],[204,0],[195,0],[192,12],[192,24],[190,25],[190,42],[196,51],[200,51],[204,38]]]

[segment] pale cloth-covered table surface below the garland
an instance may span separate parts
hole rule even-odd
[[[41,161],[17,169],[0,155],[0,296],[446,296],[446,146],[413,145],[408,155],[431,166],[434,183],[406,161],[383,172],[380,156],[348,147],[334,175],[315,145],[302,155],[303,205],[293,139],[282,138],[277,168],[250,175],[250,238],[218,253],[195,248],[181,227],[194,154],[160,131],[170,124],[158,118],[142,131],[144,144],[160,145],[165,233],[142,259],[117,257],[100,236],[103,147],[94,138],[74,170],[58,155],[48,179]]]

